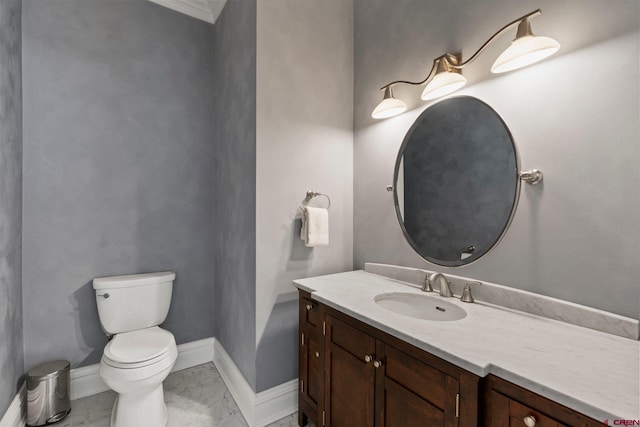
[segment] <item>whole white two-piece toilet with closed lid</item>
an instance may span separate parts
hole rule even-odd
[[[93,280],[102,329],[111,336],[100,376],[117,393],[111,427],[164,427],[162,382],[176,362],[173,334],[160,328],[171,304],[172,271]]]

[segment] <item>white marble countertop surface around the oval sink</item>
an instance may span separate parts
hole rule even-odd
[[[322,302],[480,377],[494,374],[596,420],[640,419],[640,342],[476,301],[461,302],[364,271],[294,281]],[[385,310],[374,297],[409,292],[467,312],[452,322]]]

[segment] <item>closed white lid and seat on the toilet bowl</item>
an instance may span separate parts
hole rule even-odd
[[[104,348],[104,358],[112,366],[137,368],[162,360],[175,345],[171,332],[153,326],[117,334]]]

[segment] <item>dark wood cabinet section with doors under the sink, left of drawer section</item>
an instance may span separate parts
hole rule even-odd
[[[329,307],[319,305],[324,318],[311,326],[316,307],[309,300],[301,292],[300,425],[478,426],[477,376]],[[322,368],[312,361],[317,331],[324,337],[316,357]],[[318,369],[324,383],[312,389]],[[314,397],[316,390],[324,396]]]

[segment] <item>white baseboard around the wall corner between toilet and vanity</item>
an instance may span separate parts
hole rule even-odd
[[[213,364],[249,427],[263,427],[298,410],[298,380],[255,393],[240,369],[216,340]]]

